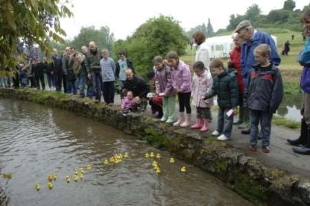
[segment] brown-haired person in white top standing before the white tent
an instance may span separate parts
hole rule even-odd
[[[210,52],[207,43],[205,42],[205,34],[201,31],[195,32],[193,34],[193,39],[195,43],[198,45],[195,62],[202,61],[203,65],[205,65],[205,68],[207,69],[207,72],[210,73],[209,69]]]

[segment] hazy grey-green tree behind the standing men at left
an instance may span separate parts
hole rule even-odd
[[[115,39],[114,34],[110,32],[109,27],[102,26],[99,30],[96,30],[94,25],[92,25],[90,27],[81,28],[79,34],[70,42],[70,45],[79,50],[82,45],[88,46],[90,41],[96,42],[99,50],[103,48],[112,50],[112,45]]]

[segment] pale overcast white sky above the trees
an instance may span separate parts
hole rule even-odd
[[[82,27],[94,25],[96,28],[108,26],[114,37],[125,39],[147,19],[160,14],[172,16],[180,25],[189,30],[205,23],[208,18],[214,30],[226,28],[231,14],[245,14],[247,8],[258,4],[262,14],[283,8],[285,0],[72,0],[70,10],[74,17],[61,19],[61,28],[67,32],[65,39],[73,39]],[[309,0],[295,0],[296,8],[302,9]]]

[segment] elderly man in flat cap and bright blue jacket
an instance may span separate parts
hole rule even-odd
[[[281,59],[278,55],[278,51],[276,48],[276,43],[271,38],[270,34],[267,34],[265,32],[260,32],[258,30],[254,30],[251,23],[247,20],[241,21],[234,32],[240,34],[242,39],[244,39],[242,46],[241,46],[241,59],[240,59],[240,65],[242,70],[242,79],[247,85],[247,81],[249,79],[249,71],[251,68],[256,65],[256,61],[254,59],[254,49],[262,44],[266,43],[271,48],[271,54],[270,54],[270,61],[273,63],[273,65],[279,65],[281,62]],[[246,110],[248,114],[248,110]],[[242,134],[249,134],[249,123],[245,123],[245,125],[240,125],[240,127],[245,130],[242,130]]]

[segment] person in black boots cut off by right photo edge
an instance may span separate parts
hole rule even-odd
[[[304,29],[307,30],[308,37],[310,36],[310,10],[304,12],[302,15]],[[302,52],[298,55],[298,61],[304,66],[302,76],[300,79],[300,87],[304,90],[302,100],[302,122],[300,129],[300,137],[297,140],[287,141],[291,145],[302,145],[300,147],[293,147],[293,152],[298,154],[310,155],[310,38],[304,45]]]

